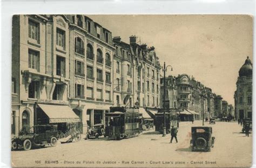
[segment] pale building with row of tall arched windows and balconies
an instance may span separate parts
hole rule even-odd
[[[105,123],[113,106],[113,43],[111,32],[84,15],[70,20],[70,107],[87,126]]]

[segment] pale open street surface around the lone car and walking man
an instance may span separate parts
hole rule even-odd
[[[170,134],[162,137],[144,131],[137,137],[121,141],[105,138],[82,139],[80,142],[58,144],[56,147],[12,151],[13,166],[250,166],[252,134],[239,133],[237,122],[205,123],[213,128],[215,137],[211,152],[191,152],[191,127],[201,121],[181,122],[178,143],[170,143]],[[244,145],[247,144],[247,145]],[[206,162],[208,164],[206,164]]]

